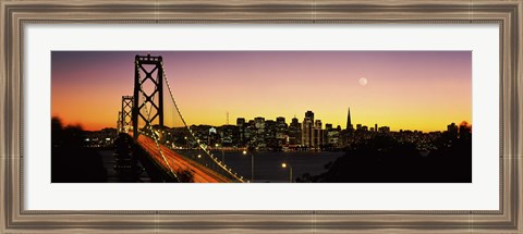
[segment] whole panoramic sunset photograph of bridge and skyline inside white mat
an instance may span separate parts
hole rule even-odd
[[[52,51],[51,183],[472,183],[472,51]]]

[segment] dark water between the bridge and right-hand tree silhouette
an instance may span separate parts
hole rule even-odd
[[[221,160],[222,152],[212,152]],[[251,180],[251,155],[242,152],[224,152],[224,162],[245,180]],[[326,172],[325,164],[335,161],[343,152],[255,152],[254,155],[254,182],[255,183],[288,183],[290,169],[282,168],[284,162],[292,167],[292,177],[302,176],[304,173],[317,175]]]

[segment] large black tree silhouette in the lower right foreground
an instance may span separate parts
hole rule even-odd
[[[472,126],[445,132],[434,141],[437,149],[423,157],[414,144],[390,135],[375,135],[346,149],[326,164],[327,172],[304,174],[296,182],[324,183],[470,183],[472,182]]]

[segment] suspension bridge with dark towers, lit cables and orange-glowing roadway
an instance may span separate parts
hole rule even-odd
[[[175,110],[171,116],[175,125],[172,127],[165,126],[163,82]],[[122,96],[117,124],[120,133],[117,161],[124,162],[120,170],[139,173],[134,165],[139,161],[147,173],[160,182],[248,182],[215,157],[208,141],[199,139],[187,126],[161,57],[135,57],[134,91],[132,96]]]

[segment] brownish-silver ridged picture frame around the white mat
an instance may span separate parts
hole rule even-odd
[[[0,2],[0,230],[3,233],[520,233],[521,0],[485,1],[8,1]],[[500,25],[500,209],[485,210],[25,210],[26,24],[482,24]]]

